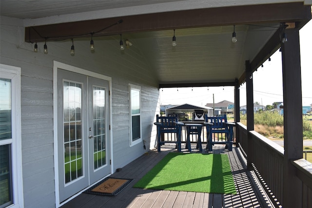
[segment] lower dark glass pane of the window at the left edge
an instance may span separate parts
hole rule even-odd
[[[12,204],[11,145],[0,146],[0,207]]]

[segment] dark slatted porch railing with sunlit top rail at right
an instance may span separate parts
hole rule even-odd
[[[248,145],[247,134],[251,137],[252,145]],[[272,202],[276,207],[280,206],[284,197],[283,189],[287,189],[287,184],[283,184],[284,148],[255,131],[248,132],[241,123],[236,123],[236,136],[236,145],[245,152],[247,160],[253,162],[254,172]],[[248,154],[249,151],[251,154]],[[294,177],[298,180],[290,183],[297,183],[296,187],[301,190],[301,206],[298,207],[312,207],[312,164],[303,158],[291,163],[295,169]]]

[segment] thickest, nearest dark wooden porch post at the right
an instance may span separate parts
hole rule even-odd
[[[295,177],[293,159],[302,158],[302,91],[299,29],[286,29],[288,41],[281,43],[284,99],[284,208],[302,207],[300,181]]]

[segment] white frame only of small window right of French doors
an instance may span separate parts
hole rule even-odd
[[[139,139],[136,139],[135,141],[132,140],[132,112],[131,112],[131,108],[132,108],[132,105],[131,105],[131,90],[132,89],[135,89],[135,90],[138,90],[140,95],[139,95],[139,105],[140,105],[140,112],[139,114],[134,114],[134,115],[139,115],[140,116],[140,138]],[[142,116],[141,116],[141,109],[142,108],[142,104],[141,104],[141,87],[140,86],[137,86],[137,85],[132,85],[132,84],[129,84],[129,121],[130,121],[130,147],[131,146],[134,146],[140,142],[142,142]]]

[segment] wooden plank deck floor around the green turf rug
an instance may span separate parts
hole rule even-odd
[[[183,147],[183,146],[182,146]],[[273,207],[261,190],[253,173],[246,165],[238,148],[229,152],[223,145],[215,145],[215,154],[227,154],[230,159],[237,194],[214,194],[186,191],[144,190],[132,186],[152,169],[173,146],[165,146],[161,153],[152,150],[123,167],[112,177],[135,180],[116,196],[99,196],[81,193],[62,208],[267,208]],[[184,150],[184,149],[183,149]],[[205,151],[205,150],[203,150]],[[243,162],[241,162],[243,161]]]

